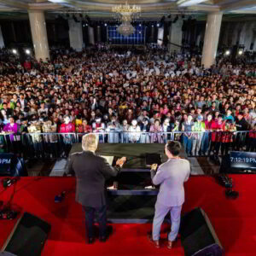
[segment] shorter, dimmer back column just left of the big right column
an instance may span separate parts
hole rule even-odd
[[[175,23],[172,23],[169,31],[169,52],[176,50],[181,51],[183,42],[183,20],[178,19]]]

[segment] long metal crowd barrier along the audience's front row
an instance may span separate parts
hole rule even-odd
[[[67,157],[73,143],[85,133],[0,134],[0,152],[20,154],[24,159]],[[88,133],[87,133],[88,134]],[[188,156],[227,154],[229,150],[256,152],[256,131],[108,131],[93,132],[99,143],[183,143]]]

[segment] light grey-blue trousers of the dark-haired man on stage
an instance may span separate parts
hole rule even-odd
[[[177,233],[180,225],[180,213],[183,206],[179,207],[166,207],[162,205],[158,201],[155,203],[155,212],[154,212],[154,220],[153,220],[153,231],[152,231],[152,239],[154,241],[160,239],[160,228],[163,223],[166,214],[170,212],[171,214],[171,232],[168,234],[168,241],[174,241],[177,237]]]

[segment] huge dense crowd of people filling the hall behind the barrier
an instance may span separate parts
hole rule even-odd
[[[251,63],[205,68],[200,56],[108,46],[26,63],[2,49],[0,60],[2,152],[59,157],[88,132],[105,143],[175,139],[188,155],[256,151]]]

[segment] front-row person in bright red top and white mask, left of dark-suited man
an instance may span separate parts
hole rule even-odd
[[[68,115],[64,116],[64,124],[61,124],[60,133],[73,133],[76,131],[75,125],[70,121]],[[64,154],[67,157],[70,149],[72,148],[74,142],[74,134],[65,134],[63,135],[63,146]]]

